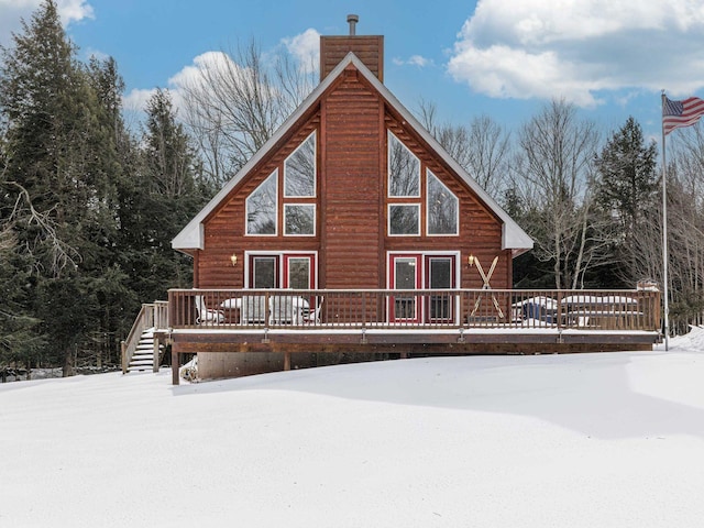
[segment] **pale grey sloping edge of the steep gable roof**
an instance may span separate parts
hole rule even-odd
[[[532,239],[502,209],[502,207],[480,186],[470,174],[455,162],[440,143],[418,122],[418,120],[396,99],[396,97],[376,78],[364,64],[350,52],[338,66],[314,89],[306,100],[292,113],[270,140],[228,182],[222,189],[188,222],[172,241],[175,250],[204,250],[204,221],[224,200],[234,187],[268,154],[294,127],[294,124],[319,100],[324,91],[337,80],[348,66],[354,66],[366,81],[380,92],[386,103],[398,112],[403,119],[430,145],[430,147],[458,174],[476,194],[484,205],[504,223],[502,226],[502,249],[513,250],[514,255],[532,249]]]

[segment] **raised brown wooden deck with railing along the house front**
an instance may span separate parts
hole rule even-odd
[[[157,318],[160,320],[163,317]],[[651,350],[657,290],[173,289],[174,383],[187,353],[534,354]]]

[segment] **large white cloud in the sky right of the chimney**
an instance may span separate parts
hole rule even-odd
[[[691,0],[480,0],[449,73],[477,92],[598,105],[609,90],[704,87],[704,4]]]

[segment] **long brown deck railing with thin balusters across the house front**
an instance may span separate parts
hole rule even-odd
[[[173,329],[660,330],[660,292],[172,289]]]

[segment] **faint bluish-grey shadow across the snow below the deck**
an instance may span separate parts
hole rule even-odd
[[[295,391],[532,417],[598,438],[689,435],[704,439],[704,409],[688,405],[678,378],[680,371],[692,374],[691,367],[696,367],[701,375],[686,380],[692,384],[695,377],[701,380],[702,361],[691,359],[692,365],[685,362],[663,372],[662,366],[670,364],[663,354],[424,358],[206,382],[174,387],[174,394]]]

